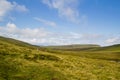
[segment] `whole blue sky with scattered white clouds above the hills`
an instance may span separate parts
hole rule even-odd
[[[0,36],[35,45],[120,44],[120,0],[0,0]]]

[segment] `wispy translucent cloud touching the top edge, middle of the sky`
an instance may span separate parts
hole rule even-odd
[[[78,0],[42,0],[50,8],[56,9],[60,17],[79,23]]]

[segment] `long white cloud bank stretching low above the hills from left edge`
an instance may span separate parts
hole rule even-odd
[[[75,32],[53,33],[44,28],[19,28],[14,23],[0,27],[0,35],[19,39],[37,45],[67,45],[95,43],[99,35],[80,34]]]

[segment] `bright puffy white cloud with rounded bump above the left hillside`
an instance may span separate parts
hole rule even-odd
[[[48,32],[44,31],[42,28],[18,28],[14,23],[8,23],[6,26],[0,27],[0,34],[18,36],[21,38],[39,38],[44,37]]]

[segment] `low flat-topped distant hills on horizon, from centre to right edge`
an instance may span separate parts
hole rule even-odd
[[[61,45],[61,46],[46,46],[49,49],[67,50],[67,51],[120,51],[120,44],[101,47],[96,44],[75,44],[75,45]]]

